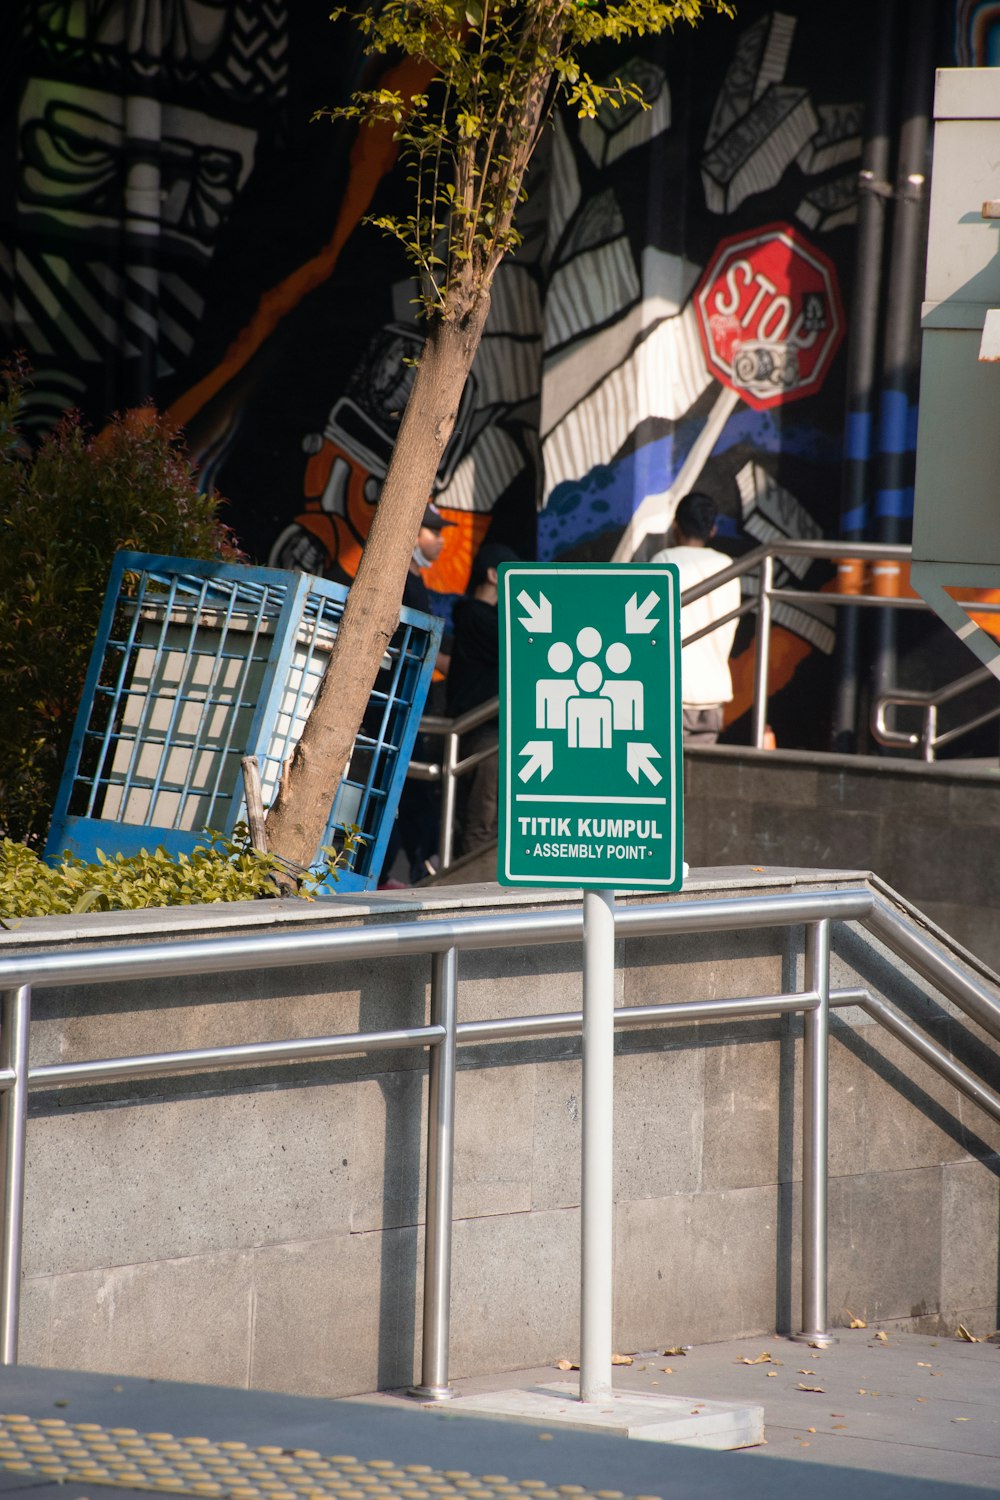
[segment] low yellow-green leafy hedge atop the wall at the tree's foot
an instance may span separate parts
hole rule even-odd
[[[349,831],[343,849],[324,849],[325,864],[297,880],[298,896],[312,900],[361,840]],[[27,844],[0,838],[0,927],[12,916],[57,916],[81,912],[127,912],[144,906],[199,906],[207,902],[249,902],[282,896],[285,866],[250,846],[238,824],[232,838],[208,830],[208,843],[177,856],[165,849],[135,855],[103,855],[88,864],[63,855],[45,864]]]

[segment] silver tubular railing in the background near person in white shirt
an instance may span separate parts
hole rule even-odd
[[[768,746],[768,678],[771,669],[771,632],[774,627],[775,606],[823,606],[838,609],[906,609],[922,610],[933,615],[930,604],[922,598],[909,596],[886,594],[844,594],[826,590],[786,588],[775,585],[775,561],[786,556],[804,556],[813,561],[843,562],[846,560],[846,543],[843,542],[769,542],[754,548],[732,567],[723,568],[696,584],[681,596],[682,604],[691,604],[708,594],[715,592],[732,579],[739,579],[748,594],[738,609],[721,615],[703,630],[697,630],[684,638],[684,645],[691,645],[703,636],[711,634],[721,626],[741,620],[744,615],[757,616],[757,632],[754,638],[754,692],[751,706],[751,746],[765,750]],[[912,549],[909,546],[889,546],[888,543],[850,543],[850,561],[861,564],[874,562],[909,562]],[[1000,603],[976,603],[978,615],[1000,615]],[[1000,718],[1000,704],[987,712],[955,724],[946,730],[939,729],[939,710],[951,702],[957,702],[966,693],[982,687],[988,681],[996,681],[988,668],[978,668],[967,676],[949,682],[942,688],[927,693],[904,692],[901,688],[883,693],[871,705],[871,734],[877,744],[895,748],[919,748],[921,758],[933,764],[939,748],[972,734],[982,724]],[[894,708],[913,708],[921,712],[921,732],[904,732],[889,723]],[[478,729],[481,724],[496,718],[499,700],[489,700],[471,708],[459,718],[444,718],[427,714],[420,722],[420,732],[432,740],[441,740],[441,759],[409,762],[408,777],[420,782],[433,782],[441,786],[441,830],[438,838],[439,870],[444,873],[456,860],[456,801],[459,782],[475,768],[498,753],[498,746],[484,746],[472,754],[462,756],[462,736]]]

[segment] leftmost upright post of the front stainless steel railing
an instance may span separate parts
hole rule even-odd
[[[0,1005],[0,1068],[13,1083],[0,1095],[3,1161],[3,1245],[0,1250],[0,1364],[18,1362],[21,1314],[21,1221],[24,1215],[24,1143],[28,1116],[28,1032],[31,988],[4,990]]]

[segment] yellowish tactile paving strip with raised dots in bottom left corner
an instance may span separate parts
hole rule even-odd
[[[249,1448],[129,1426],[0,1414],[0,1468],[220,1500],[625,1500],[621,1490],[471,1474],[309,1448]],[[660,1500],[637,1496],[636,1500]]]

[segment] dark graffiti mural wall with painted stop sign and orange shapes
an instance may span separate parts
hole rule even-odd
[[[403,190],[390,134],[310,123],[375,78],[327,12],[25,4],[4,64],[0,330],[34,368],[34,430],[151,399],[252,556],[349,578],[420,332],[397,249],[363,224]],[[871,0],[744,0],[735,21],[594,58],[651,108],[559,118],[534,168],[438,474],[456,522],[427,574],[442,614],[487,532],[526,558],[643,558],[696,486],[733,555],[840,534],[871,16]],[[1000,57],[999,4],[942,0],[937,18],[940,63]],[[421,78],[405,63],[385,81]],[[777,620],[801,720],[835,612]],[[738,663],[733,720],[748,681]]]

